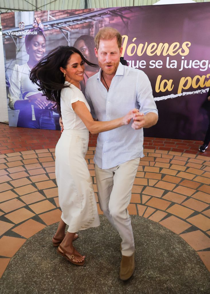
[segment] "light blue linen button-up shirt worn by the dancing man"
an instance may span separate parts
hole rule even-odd
[[[111,121],[124,116],[133,108],[144,114],[158,114],[147,75],[119,64],[109,92],[101,83],[101,69],[87,81],[85,96],[91,114],[99,121]],[[109,169],[131,159],[143,157],[143,128],[134,130],[131,123],[99,133],[94,162]]]

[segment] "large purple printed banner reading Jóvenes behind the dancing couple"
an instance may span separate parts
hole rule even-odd
[[[210,115],[209,19],[210,3],[1,14],[10,126],[60,129],[56,108],[42,105],[30,69],[59,45],[75,46],[97,63],[94,36],[112,26],[123,36],[128,66],[144,71],[153,88],[159,121],[144,135],[203,140]],[[96,71],[85,67],[83,91]]]

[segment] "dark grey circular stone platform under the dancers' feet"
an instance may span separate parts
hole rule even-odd
[[[28,239],[11,259],[0,281],[1,294],[207,294],[210,273],[181,237],[151,220],[131,216],[136,270],[123,282],[118,272],[120,238],[100,216],[101,225],[79,232],[74,245],[83,267],[56,253],[51,238],[57,224]]]

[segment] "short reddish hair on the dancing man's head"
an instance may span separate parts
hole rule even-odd
[[[121,49],[122,47],[122,36],[118,32],[118,30],[111,28],[111,27],[106,27],[101,29],[95,36],[95,44],[96,44],[96,49],[99,49],[99,41],[100,40],[113,40],[117,39],[117,44],[118,48]]]

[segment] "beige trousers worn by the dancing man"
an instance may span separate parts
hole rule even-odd
[[[122,238],[122,255],[125,256],[131,256],[135,249],[127,207],[139,161],[138,157],[109,169],[95,164],[99,206]]]

